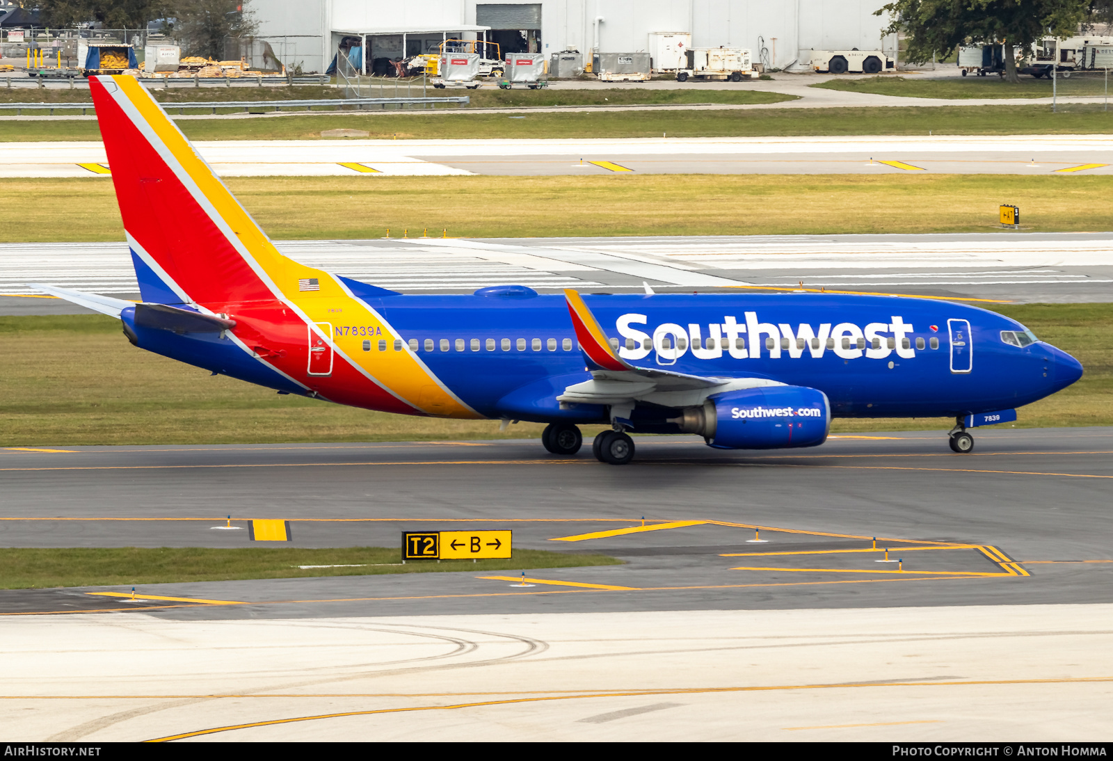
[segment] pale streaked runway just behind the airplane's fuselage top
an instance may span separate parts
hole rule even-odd
[[[402,293],[514,283],[541,293],[846,290],[1006,302],[1113,300],[1113,234],[287,240],[312,267]],[[122,243],[0,245],[0,315],[82,314],[43,283],[138,298]],[[977,302],[975,302],[977,303]]]

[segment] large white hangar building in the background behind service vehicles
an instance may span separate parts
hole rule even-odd
[[[252,0],[267,41],[287,67],[324,71],[347,37],[373,57],[435,51],[445,37],[485,36],[505,52],[636,52],[651,32],[690,32],[693,47],[750,48],[772,68],[807,65],[810,49],[881,49],[883,0]],[[590,60],[590,59],[589,59]]]

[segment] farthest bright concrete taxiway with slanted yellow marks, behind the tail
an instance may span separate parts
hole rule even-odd
[[[529,117],[524,117],[529,118]],[[199,140],[221,177],[628,174],[1113,174],[1101,135]],[[104,146],[0,144],[0,178],[110,175]]]

